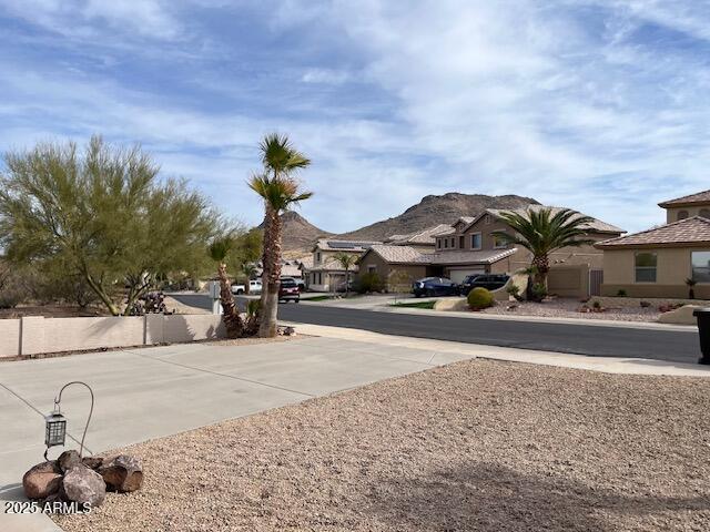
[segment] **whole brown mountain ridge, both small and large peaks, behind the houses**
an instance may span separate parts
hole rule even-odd
[[[375,222],[359,229],[334,234],[316,227],[301,214],[288,211],[282,215],[283,249],[307,254],[315,241],[337,236],[344,239],[383,241],[396,234],[414,233],[438,224],[453,224],[462,216],[475,216],[486,208],[523,208],[539,205],[531,197],[506,194],[488,196],[485,194],[462,194],[449,192],[442,195],[424,196],[419,203],[392,218]],[[260,225],[260,228],[262,226]]]

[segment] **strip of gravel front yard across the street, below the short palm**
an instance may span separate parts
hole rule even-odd
[[[507,310],[509,305],[517,305],[515,310]],[[578,299],[555,299],[545,303],[499,303],[495,307],[483,310],[485,314],[505,314],[520,316],[548,316],[551,318],[590,318],[615,319],[619,321],[657,321],[660,311],[656,307],[615,307],[604,313],[580,313],[582,306]],[[587,303],[591,307],[591,300]]]

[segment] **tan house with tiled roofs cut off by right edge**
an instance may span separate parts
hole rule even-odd
[[[604,252],[601,294],[710,299],[710,191],[659,203],[665,225],[597,244]]]

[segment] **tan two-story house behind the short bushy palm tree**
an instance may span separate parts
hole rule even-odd
[[[531,205],[528,208],[546,208]],[[559,207],[547,207],[559,208]],[[526,213],[527,209],[519,209]],[[488,208],[475,217],[462,217],[435,238],[433,253],[406,246],[374,245],[361,258],[361,272],[377,272],[389,285],[404,288],[417,277],[444,276],[460,283],[468,275],[514,273],[530,265],[527,249],[496,238],[496,231],[511,231],[501,218],[503,211]],[[622,229],[594,219],[586,227],[588,238],[597,242],[617,237]],[[585,296],[589,291],[589,270],[601,269],[602,253],[592,245],[562,248],[550,255],[552,272],[549,289],[564,296]],[[392,280],[395,278],[396,280]]]

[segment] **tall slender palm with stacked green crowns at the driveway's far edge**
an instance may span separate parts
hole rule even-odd
[[[272,133],[258,145],[264,172],[253,175],[250,187],[264,200],[264,250],[261,297],[261,324],[258,336],[276,336],[278,289],[281,286],[281,218],[280,215],[310,198],[313,193],[303,192],[293,174],[305,168],[311,161],[296,151],[288,137]]]

